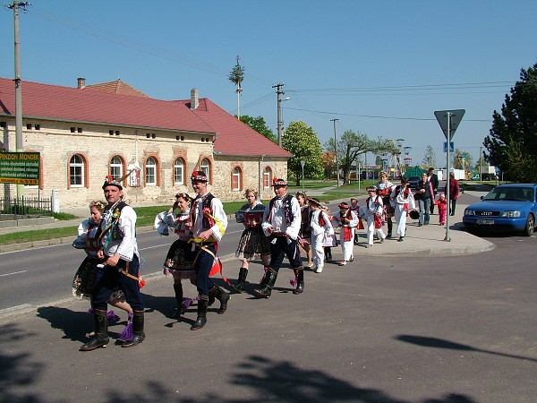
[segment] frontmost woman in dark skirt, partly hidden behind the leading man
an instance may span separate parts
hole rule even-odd
[[[91,201],[90,202],[90,219],[85,219],[78,227],[79,237],[72,244],[77,249],[84,249],[87,253],[86,259],[81,263],[79,270],[77,270],[72,279],[72,295],[79,298],[90,299],[90,313],[93,313],[93,301],[91,300],[91,294],[93,293],[93,286],[102,276],[101,268],[98,268],[98,264],[102,264],[104,260],[98,259],[97,253],[100,250],[99,237],[101,235],[100,224],[102,215],[105,212],[106,203],[103,201]],[[132,320],[132,308],[131,305],[125,301],[125,296],[121,289],[117,289],[115,293],[108,299],[108,304],[117,308],[123,309],[129,314],[129,320]],[[115,320],[114,311],[107,311],[108,321]],[[95,336],[95,332],[90,332],[90,338]],[[122,333],[120,339],[127,337]]]

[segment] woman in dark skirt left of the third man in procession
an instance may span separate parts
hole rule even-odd
[[[268,266],[270,262],[270,245],[268,238],[263,234],[261,222],[265,213],[265,206],[258,201],[258,193],[252,189],[246,189],[244,197],[248,201],[235,213],[235,219],[239,223],[243,223],[244,231],[235,256],[243,259],[241,270],[239,270],[239,279],[234,289],[242,291],[250,262],[254,259],[261,259],[261,262]]]

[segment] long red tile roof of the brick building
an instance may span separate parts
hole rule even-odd
[[[192,111],[190,99],[151,99],[124,82],[121,85],[124,90],[128,90],[128,87],[139,94],[121,95],[112,93],[110,84],[96,84],[79,89],[22,81],[22,114],[26,118],[73,123],[118,124],[149,130],[153,128],[218,133],[215,142],[217,154],[284,158],[292,156],[209,99],[200,99],[200,106]],[[14,113],[13,80],[0,78],[0,116],[14,116]]]

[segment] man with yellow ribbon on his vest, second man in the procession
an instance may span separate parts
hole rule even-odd
[[[203,171],[193,171],[191,176],[192,188],[197,194],[191,204],[191,226],[194,252],[194,270],[196,272],[196,287],[200,294],[198,301],[198,318],[191,330],[199,330],[207,323],[207,308],[209,297],[220,301],[218,313],[226,312],[229,295],[209,278],[217,256],[218,242],[224,236],[227,227],[227,217],[222,201],[207,190],[209,179]]]

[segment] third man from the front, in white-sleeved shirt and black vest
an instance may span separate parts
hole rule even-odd
[[[254,289],[258,296],[265,298],[272,294],[284,256],[287,256],[294,270],[296,288],[293,294],[301,294],[304,290],[304,272],[298,248],[300,205],[294,195],[287,193],[287,182],[284,179],[274,178],[272,186],[276,197],[269,201],[261,224],[265,235],[270,237],[270,263],[261,281],[261,287]]]

